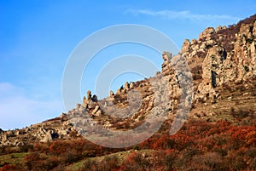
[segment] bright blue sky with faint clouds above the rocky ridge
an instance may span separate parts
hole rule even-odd
[[[0,128],[22,128],[65,111],[61,79],[68,56],[95,31],[121,24],[150,26],[181,48],[185,38],[197,38],[207,26],[235,24],[255,9],[255,0],[0,0]],[[109,48],[84,71],[81,94],[94,89],[104,62],[122,54],[147,55],[159,68],[162,62],[160,54],[134,44]],[[139,78],[125,74],[111,88]]]

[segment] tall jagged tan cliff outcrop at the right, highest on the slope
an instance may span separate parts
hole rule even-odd
[[[250,82],[255,77],[254,26],[255,21],[241,23],[239,31],[233,34],[230,34],[233,27],[218,26],[216,30],[209,27],[198,40],[191,43],[188,39],[184,41],[181,53],[188,60],[194,75],[195,101],[214,99],[215,88],[224,84]]]

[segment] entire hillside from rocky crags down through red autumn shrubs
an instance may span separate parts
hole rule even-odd
[[[153,167],[156,163],[154,157],[159,157],[158,162],[163,162],[162,165],[166,167],[168,164],[157,152],[160,151],[172,159],[177,157],[180,160],[173,162],[170,168],[160,168],[161,164],[156,164],[155,167],[159,170],[171,168],[186,170],[189,166],[179,168],[177,162],[183,160],[183,163],[195,164],[196,160],[206,160],[206,158],[216,159],[215,161],[209,159],[209,161],[217,166],[229,163],[233,159],[236,162],[243,161],[241,169],[237,163],[239,165],[237,169],[216,168],[215,170],[256,169],[256,14],[246,20],[241,20],[234,26],[218,26],[216,29],[209,27],[201,33],[198,39],[185,40],[180,54],[172,56],[164,52],[162,58],[164,61],[160,73],[142,81],[125,83],[116,93],[111,91],[109,97],[103,100],[97,100],[96,95],[88,91],[82,104],[78,104],[76,108],[67,113],[62,113],[60,117],[26,128],[9,131],[0,129],[0,154],[9,155],[14,152],[30,151],[26,153],[26,161],[21,160],[21,162],[26,163],[25,168],[32,169],[31,165],[27,165],[28,161],[50,160],[49,156],[52,155],[56,156],[55,162],[60,162],[63,160],[61,155],[67,154],[67,151],[76,151],[74,153],[77,156],[74,153],[67,155],[77,158],[73,158],[71,162],[62,163],[60,167],[64,165],[66,167],[87,157],[104,156],[134,148],[134,150],[150,149],[150,151],[137,151],[127,160],[126,157],[122,159],[126,163],[119,161],[119,165],[113,168],[129,170],[129,163],[136,162],[136,160],[142,162],[140,163],[142,165],[144,161],[146,165]],[[177,68],[185,67],[184,61],[187,62],[189,71],[185,70],[181,73],[177,71]],[[193,78],[191,85],[189,77]],[[164,91],[166,93],[155,89],[163,84],[160,79],[165,81]],[[162,94],[166,94],[166,97],[162,98]],[[189,116],[180,115],[178,111],[181,108],[189,110]],[[143,125],[152,112],[161,113],[163,112],[161,110],[167,112],[164,116],[167,118],[166,121],[150,139],[137,146],[109,149],[93,145],[83,138],[85,134],[83,124],[90,125],[91,128],[98,124],[113,131],[124,131]],[[177,134],[169,135],[173,121],[177,120],[179,123],[185,122],[183,128]],[[96,130],[91,129],[86,134],[94,136]],[[192,139],[191,136],[197,140]],[[35,151],[40,151],[43,156],[37,153],[38,156],[29,158],[31,157],[29,155],[36,155],[32,153]],[[241,153],[236,153],[236,151]],[[249,151],[253,152],[248,154]],[[185,154],[191,156],[184,157]],[[237,159],[235,154],[241,155],[242,159]],[[24,155],[22,153],[21,157]],[[221,162],[222,159],[226,163]],[[112,158],[109,161],[115,160]],[[104,162],[109,161],[106,159]],[[96,159],[96,162],[90,163],[91,165],[86,163],[90,165],[88,166],[90,168],[99,165],[98,162]],[[8,163],[1,161],[0,167],[1,165],[8,165]],[[57,167],[58,164],[55,164],[45,170],[57,169]],[[208,168],[196,167],[195,170],[214,170],[211,164],[209,166],[206,164]],[[146,168],[145,166],[143,169]]]

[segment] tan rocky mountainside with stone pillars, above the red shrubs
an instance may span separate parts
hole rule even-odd
[[[249,124],[256,115],[255,48],[256,14],[234,26],[209,27],[198,39],[185,40],[177,56],[163,52],[162,71],[154,77],[125,83],[116,93],[110,91],[109,97],[103,100],[97,100],[96,95],[92,95],[89,90],[82,104],[62,113],[60,117],[26,128],[9,131],[0,129],[0,146],[79,138],[83,129],[75,126],[79,121],[74,123],[73,118],[85,114],[88,115],[83,122],[91,126],[101,124],[113,130],[137,128],[154,107],[160,105],[155,102],[155,94],[161,92],[155,91],[152,85],[159,83],[159,77],[166,81],[167,99],[164,102],[170,122],[175,118],[184,122],[187,116],[178,116],[177,111],[181,107],[188,107],[190,118],[200,117],[207,122],[224,119],[237,124]],[[184,61],[189,71],[181,73],[177,68],[184,68]],[[190,72],[192,74],[189,75]],[[191,85],[189,77],[193,78]],[[184,83],[181,78],[185,80]],[[189,85],[189,88],[185,85]],[[182,88],[184,86],[186,93]],[[131,92],[136,91],[140,96],[132,95]],[[129,108],[129,105],[136,106],[137,110]],[[118,118],[120,115],[124,116]]]

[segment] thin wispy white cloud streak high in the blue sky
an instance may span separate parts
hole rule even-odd
[[[129,14],[143,14],[148,16],[159,16],[166,19],[174,20],[174,19],[180,19],[180,20],[233,20],[238,21],[241,20],[241,18],[230,16],[230,15],[218,15],[218,14],[193,14],[189,11],[172,11],[172,10],[160,10],[160,11],[154,11],[154,10],[147,10],[147,9],[138,9],[133,10],[129,9],[126,11]]]

